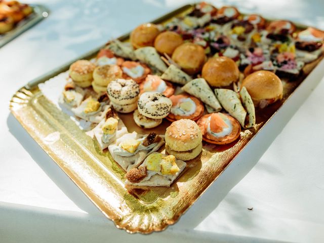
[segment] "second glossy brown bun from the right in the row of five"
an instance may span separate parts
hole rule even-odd
[[[205,63],[201,76],[213,87],[224,87],[238,79],[239,70],[228,57],[212,57]]]

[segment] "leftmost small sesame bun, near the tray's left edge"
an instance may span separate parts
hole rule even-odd
[[[88,60],[77,60],[70,66],[70,77],[74,82],[91,81],[96,66]],[[91,85],[91,84],[90,84]]]

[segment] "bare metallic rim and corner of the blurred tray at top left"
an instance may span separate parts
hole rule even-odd
[[[39,21],[42,21],[44,18],[49,16],[50,11],[45,6],[33,4],[30,4],[30,6],[33,8],[32,14],[21,20],[12,30],[4,34],[0,34],[0,48],[5,46],[27,29],[37,24]]]

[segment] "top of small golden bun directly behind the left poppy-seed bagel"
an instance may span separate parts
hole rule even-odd
[[[123,71],[117,65],[102,65],[93,72],[93,80],[97,85],[106,86],[117,78],[123,76]]]

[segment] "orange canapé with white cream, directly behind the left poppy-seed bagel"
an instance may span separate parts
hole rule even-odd
[[[123,77],[125,79],[133,79],[137,84],[142,83],[147,74],[151,73],[151,69],[143,63],[134,61],[125,61],[121,64]]]

